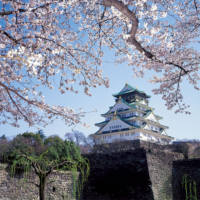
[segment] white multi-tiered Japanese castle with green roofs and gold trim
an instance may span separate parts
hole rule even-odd
[[[144,91],[126,83],[124,88],[116,94],[114,106],[101,116],[103,122],[96,123],[99,130],[91,136],[98,136],[107,143],[123,140],[159,141],[160,144],[174,140],[168,136],[168,126],[162,125],[162,117],[155,114],[155,109],[149,106],[151,97]]]

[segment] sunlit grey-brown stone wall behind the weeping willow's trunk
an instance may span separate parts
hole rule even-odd
[[[39,183],[39,178],[35,171],[29,172],[27,176],[24,172],[17,172],[11,178],[11,165],[0,163],[0,199],[1,200],[38,200],[39,188],[33,183]],[[47,177],[45,195],[47,200],[75,199],[73,196],[72,172],[62,172],[54,170]],[[27,182],[24,182],[24,177]],[[74,176],[75,177],[75,176]]]

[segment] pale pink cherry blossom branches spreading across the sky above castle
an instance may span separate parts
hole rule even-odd
[[[105,47],[115,49],[116,64],[133,68],[133,77],[146,69],[160,73],[149,80],[160,85],[154,94],[183,112],[180,83],[187,78],[200,89],[200,54],[191,45],[199,42],[199,14],[196,0],[2,0],[0,124],[18,127],[24,119],[46,126],[58,117],[82,123],[85,112],[48,105],[39,86],[52,89],[59,76],[61,94],[78,93],[76,82],[89,96],[90,87],[109,87],[99,68]]]

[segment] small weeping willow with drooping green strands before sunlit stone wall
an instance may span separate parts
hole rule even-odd
[[[80,197],[80,192],[83,187],[83,183],[87,180],[89,175],[89,163],[86,159],[80,157],[79,160],[73,160],[71,158],[63,157],[59,160],[50,161],[47,156],[48,150],[44,152],[40,156],[29,156],[26,152],[21,152],[20,150],[15,149],[15,152],[12,154],[16,158],[13,161],[11,166],[11,177],[13,177],[15,173],[15,167],[25,166],[24,172],[27,175],[30,172],[30,169],[34,169],[36,175],[39,178],[39,184],[35,182],[29,181],[29,183],[33,183],[39,189],[39,197],[40,200],[45,200],[45,187],[47,183],[47,177],[53,172],[53,170],[67,170],[72,171],[73,176],[77,171],[81,172],[81,181],[78,182],[74,186],[74,191],[78,191],[78,197]],[[60,168],[63,167],[63,168]],[[67,173],[67,172],[66,172]],[[73,177],[73,181],[76,181],[77,177]],[[55,181],[55,180],[54,180]],[[78,188],[75,188],[78,187]],[[75,192],[74,192],[75,195]]]

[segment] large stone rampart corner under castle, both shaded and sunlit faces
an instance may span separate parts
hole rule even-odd
[[[85,157],[91,162],[91,176],[83,199],[172,200],[172,165],[183,155],[136,148]]]

